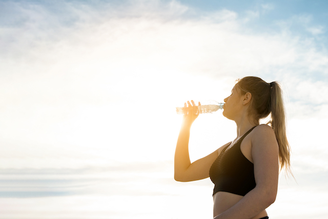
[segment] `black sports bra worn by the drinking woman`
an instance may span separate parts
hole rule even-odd
[[[210,178],[214,183],[213,195],[224,191],[244,196],[255,188],[254,165],[241,152],[240,144],[244,137],[255,127],[246,132],[226,151],[222,150],[210,168]]]

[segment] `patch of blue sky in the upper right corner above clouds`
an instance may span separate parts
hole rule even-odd
[[[328,43],[324,35],[327,27],[328,12],[326,1],[209,1],[209,4],[203,4],[202,1],[180,1],[182,4],[189,5],[204,12],[217,11],[222,9],[232,10],[238,13],[240,17],[248,16],[254,13],[257,19],[253,19],[247,24],[254,32],[280,32],[285,25],[289,31],[298,34],[300,37],[314,37],[318,48]],[[298,20],[296,17],[302,16]],[[315,26],[319,28],[320,33],[313,34],[306,26]],[[323,47],[324,48],[324,47]]]

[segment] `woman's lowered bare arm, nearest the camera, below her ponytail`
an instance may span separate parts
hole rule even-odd
[[[252,218],[275,201],[279,174],[278,143],[271,127],[261,125],[254,131],[252,158],[256,187],[215,219]]]

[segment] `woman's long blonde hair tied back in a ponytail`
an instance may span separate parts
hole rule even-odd
[[[291,147],[286,137],[285,110],[282,99],[282,89],[279,83],[264,82],[259,77],[244,77],[236,84],[240,88],[240,94],[250,92],[252,94],[249,114],[254,116],[258,123],[261,118],[271,113],[271,121],[268,123],[274,130],[279,145],[280,170],[285,168],[286,173],[291,171]],[[292,174],[293,175],[293,174]]]

